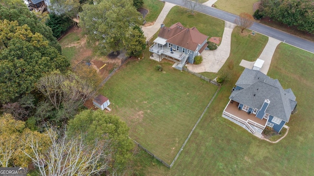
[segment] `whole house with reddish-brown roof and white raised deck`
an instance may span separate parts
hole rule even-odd
[[[157,39],[149,48],[157,55],[160,62],[163,58],[174,61],[175,68],[182,70],[186,62],[193,64],[194,57],[208,46],[208,36],[200,33],[196,27],[186,28],[180,22],[170,27],[160,26]]]

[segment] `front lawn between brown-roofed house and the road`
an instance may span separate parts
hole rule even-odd
[[[164,24],[170,27],[172,24],[181,22],[184,27],[196,27],[201,33],[210,37],[222,37],[225,22],[208,15],[191,11],[187,8],[174,6],[164,20]]]

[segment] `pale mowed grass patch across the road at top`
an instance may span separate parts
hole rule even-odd
[[[253,15],[253,4],[259,0],[218,0],[214,4],[217,9],[239,15],[242,12]]]

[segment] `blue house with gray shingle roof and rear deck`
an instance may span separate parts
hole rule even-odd
[[[253,134],[262,134],[266,126],[280,132],[296,107],[295,98],[277,79],[245,68],[222,116]]]

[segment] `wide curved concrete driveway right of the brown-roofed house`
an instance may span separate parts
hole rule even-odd
[[[200,65],[187,64],[187,68],[196,73],[200,72],[214,72],[217,73],[219,69],[225,64],[231,49],[231,34],[235,24],[231,22],[225,22],[225,30],[222,36],[221,44],[216,50],[204,50],[201,55],[203,56],[203,62]]]

